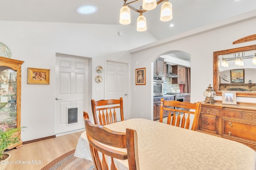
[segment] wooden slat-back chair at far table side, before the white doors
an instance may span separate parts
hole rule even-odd
[[[118,121],[117,113],[120,113],[120,121],[124,120],[123,98],[118,100],[108,99],[99,101],[92,99],[91,104],[95,124],[108,125],[110,123],[115,123]]]

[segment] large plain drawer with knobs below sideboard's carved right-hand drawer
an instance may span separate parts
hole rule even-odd
[[[256,139],[256,123],[222,118],[222,135],[249,141]]]

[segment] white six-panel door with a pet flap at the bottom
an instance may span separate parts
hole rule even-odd
[[[55,134],[84,128],[88,110],[89,60],[56,55]],[[67,107],[78,106],[78,123],[67,124]]]

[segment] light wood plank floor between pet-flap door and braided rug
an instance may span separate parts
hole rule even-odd
[[[23,145],[19,149],[7,150],[11,154],[9,161],[13,164],[7,165],[6,170],[40,170],[52,160],[62,154],[76,149],[76,144],[83,131],[58,136],[34,143]],[[32,164],[32,161],[38,164]],[[24,161],[24,164],[15,164],[15,161]],[[28,164],[28,161],[30,164]]]

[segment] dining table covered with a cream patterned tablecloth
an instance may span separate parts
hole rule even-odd
[[[140,118],[104,127],[137,131],[140,170],[256,170],[255,150],[236,141]],[[86,131],[78,139],[74,156],[92,160]],[[129,169],[128,160],[115,163],[120,170]]]

